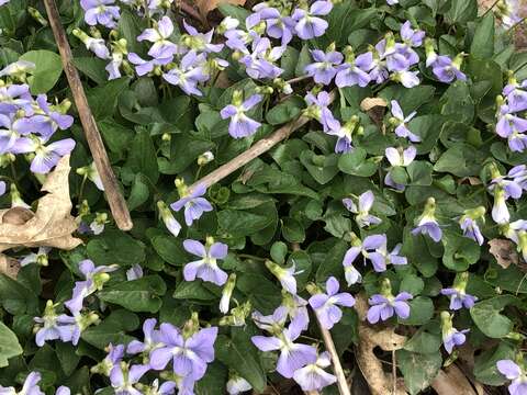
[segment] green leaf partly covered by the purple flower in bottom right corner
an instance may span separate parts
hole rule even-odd
[[[507,379],[500,373],[496,362],[500,360],[513,360],[516,357],[516,349],[508,342],[501,341],[497,346],[486,350],[474,359],[474,376],[482,384],[503,385]]]

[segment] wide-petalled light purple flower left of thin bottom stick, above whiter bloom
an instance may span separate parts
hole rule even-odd
[[[277,372],[287,379],[291,379],[294,372],[316,361],[316,350],[313,346],[295,343],[301,328],[291,324],[273,337],[253,336],[253,343],[261,351],[280,351]]]

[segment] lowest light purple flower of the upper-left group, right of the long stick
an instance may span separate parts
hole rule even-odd
[[[190,50],[186,54],[181,63],[169,71],[162,75],[162,78],[181,88],[187,94],[203,95],[198,89],[198,83],[206,81],[210,76],[205,74],[203,64],[205,61],[205,54],[197,55],[195,52]]]

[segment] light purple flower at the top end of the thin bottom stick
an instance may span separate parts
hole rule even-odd
[[[330,276],[326,281],[326,292],[310,297],[310,305],[315,311],[323,328],[332,329],[343,318],[338,306],[352,307],[355,298],[347,292],[338,293],[338,280]]]

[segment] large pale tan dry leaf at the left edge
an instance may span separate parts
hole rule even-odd
[[[70,214],[69,170],[68,155],[47,176],[42,191],[48,193],[38,200],[36,213],[20,207],[0,211],[0,252],[21,246],[72,249],[82,242],[71,236],[77,224]]]

